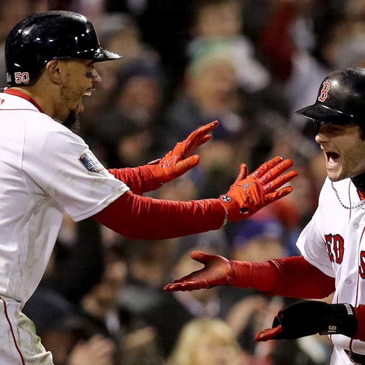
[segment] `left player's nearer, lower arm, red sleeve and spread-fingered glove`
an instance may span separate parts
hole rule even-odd
[[[250,216],[265,205],[292,191],[280,188],[297,175],[291,160],[275,157],[246,177],[242,165],[238,178],[220,199],[172,201],[143,197],[128,191],[93,218],[129,238],[168,239],[222,227]]]

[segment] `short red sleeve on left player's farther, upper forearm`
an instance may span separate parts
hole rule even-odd
[[[142,195],[161,186],[146,165],[134,168],[109,169],[112,175],[123,181],[134,194]]]

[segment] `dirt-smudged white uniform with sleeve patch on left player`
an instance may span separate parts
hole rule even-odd
[[[88,218],[129,188],[82,138],[12,89],[0,93],[0,171],[0,364],[50,365],[21,308],[45,272],[64,212]]]

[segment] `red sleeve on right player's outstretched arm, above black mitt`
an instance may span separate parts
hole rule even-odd
[[[249,283],[247,283],[247,264],[250,266]],[[235,261],[235,265],[238,276],[235,284],[240,284],[241,272],[243,287],[248,285],[267,295],[319,299],[335,291],[335,279],[311,265],[303,256],[285,257],[267,262]]]

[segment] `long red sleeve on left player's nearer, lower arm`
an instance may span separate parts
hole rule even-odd
[[[219,229],[225,214],[218,199],[163,200],[127,191],[93,218],[125,237],[168,239]]]

